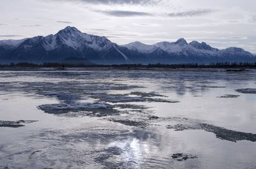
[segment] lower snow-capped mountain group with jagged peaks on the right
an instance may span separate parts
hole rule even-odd
[[[238,62],[255,61],[255,57],[246,52],[243,48],[230,47],[223,50],[213,48],[207,43],[191,41],[188,43],[184,38],[175,42],[161,41],[154,45],[145,45],[140,42],[124,45],[129,50],[140,52],[141,54],[157,54],[158,58],[164,61],[171,59],[173,62]]]

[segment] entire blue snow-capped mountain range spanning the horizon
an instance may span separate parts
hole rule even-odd
[[[88,64],[256,61],[255,55],[242,48],[218,50],[205,42],[187,43],[183,38],[172,43],[146,45],[136,41],[120,46],[104,36],[81,33],[70,26],[45,37],[0,41],[0,62],[66,62],[70,59],[88,61]]]

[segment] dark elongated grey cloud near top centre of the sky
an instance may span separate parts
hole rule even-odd
[[[106,15],[111,15],[114,17],[134,17],[134,16],[151,16],[152,14],[147,12],[140,12],[140,11],[120,11],[120,10],[113,10],[113,11],[100,11],[100,13],[104,13]]]

